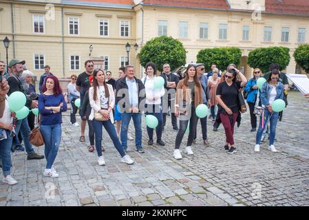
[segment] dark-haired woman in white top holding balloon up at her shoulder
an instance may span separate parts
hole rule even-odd
[[[153,83],[156,73],[156,64],[149,62],[146,64],[147,76],[142,78],[142,83],[145,85],[146,91],[146,115],[153,115],[158,119],[158,126],[156,126],[157,133],[157,144],[164,146],[165,143],[162,141],[162,129],[163,129],[163,113],[162,113],[162,100],[164,96],[164,87],[160,89],[154,89]],[[153,145],[153,129],[147,126],[147,133],[149,137],[148,145]]]

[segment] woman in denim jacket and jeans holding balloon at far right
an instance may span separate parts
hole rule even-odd
[[[270,135],[269,135],[269,146],[268,149],[272,152],[277,152],[274,142],[276,134],[276,126],[278,121],[278,114],[274,112],[271,104],[277,99],[284,98],[284,85],[279,82],[280,73],[277,69],[273,69],[270,72],[269,78],[264,83],[261,89],[261,102],[264,107],[264,113],[259,119],[259,129],[257,130],[257,138],[255,142],[255,151],[259,152],[259,143],[261,142],[262,134],[267,122],[270,122]]]

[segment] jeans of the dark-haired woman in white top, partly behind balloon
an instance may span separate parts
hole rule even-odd
[[[158,119],[158,126],[156,126],[156,133],[157,133],[157,140],[161,140],[162,129],[163,129],[163,113],[160,104],[148,104],[147,109],[149,109],[149,111],[145,113],[146,115],[153,115]],[[153,129],[149,128],[149,126],[147,126],[147,133],[149,140],[153,140]]]

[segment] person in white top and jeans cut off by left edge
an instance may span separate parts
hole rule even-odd
[[[2,93],[5,94],[2,94]],[[11,147],[14,128],[12,124],[12,113],[8,106],[7,90],[1,89],[1,99],[5,100],[3,116],[0,118],[0,156],[2,162],[3,183],[14,185],[17,181],[11,176]]]

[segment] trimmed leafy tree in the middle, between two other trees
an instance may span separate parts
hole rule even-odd
[[[238,47],[206,48],[200,50],[196,58],[198,63],[204,63],[205,72],[211,70],[213,63],[217,65],[218,69],[223,71],[231,63],[239,66],[242,59],[242,51]]]

